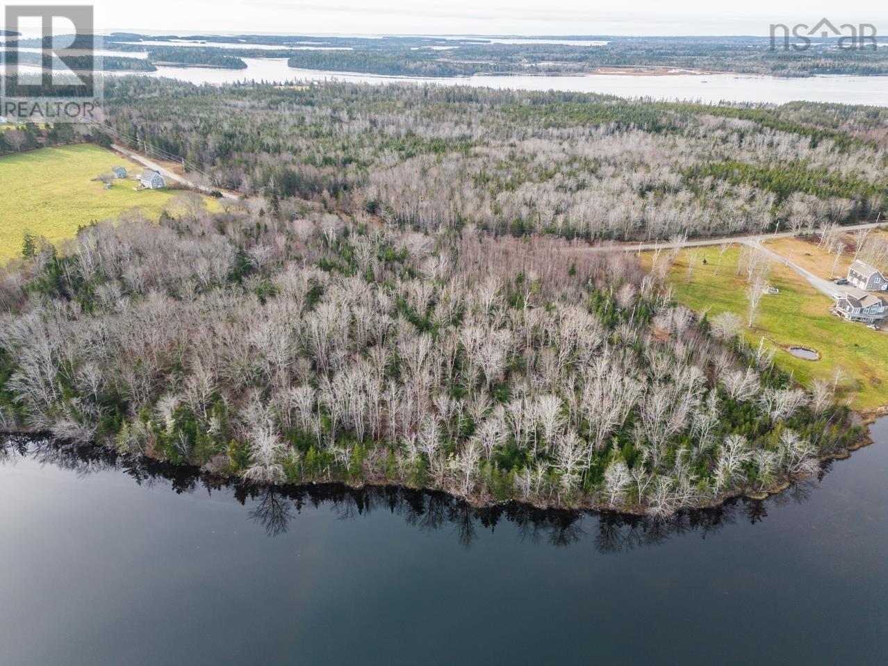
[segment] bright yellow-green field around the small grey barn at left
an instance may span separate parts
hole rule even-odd
[[[138,207],[157,218],[180,194],[134,191],[138,185],[134,178],[115,180],[108,190],[92,180],[115,165],[131,174],[141,172],[135,163],[92,145],[41,148],[0,157],[0,262],[20,257],[26,229],[59,242],[73,236],[78,226],[113,218],[124,210]]]

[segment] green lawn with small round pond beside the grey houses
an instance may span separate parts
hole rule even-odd
[[[725,252],[718,275],[714,274],[718,252],[708,252],[710,263],[703,266],[697,261],[688,281],[687,253],[692,251],[701,250],[683,250],[671,269],[670,281],[678,301],[700,313],[709,311],[710,317],[730,311],[746,321],[746,276],[737,275],[736,270],[739,248],[732,246]],[[853,408],[888,403],[888,333],[830,314],[830,299],[786,266],[773,263],[769,282],[780,294],[762,298],[756,326],[745,333],[749,342],[757,345],[765,337],[766,344],[776,349],[774,360],[802,385],[810,386],[817,377],[830,379],[836,368],[841,368],[845,378],[840,398],[850,398]],[[821,360],[798,359],[786,351],[789,345],[815,349]]]

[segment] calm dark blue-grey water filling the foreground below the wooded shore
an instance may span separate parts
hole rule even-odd
[[[888,421],[667,524],[7,443],[0,664],[886,664]]]

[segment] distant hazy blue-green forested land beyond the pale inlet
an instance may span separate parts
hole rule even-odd
[[[170,40],[170,44],[174,44],[171,40],[178,37],[115,35],[110,39],[138,41],[143,38]],[[822,40],[805,51],[784,50],[782,43],[772,48],[771,40],[765,37],[585,38],[590,42],[607,41],[598,45],[551,44],[542,39],[501,44],[483,38],[440,37],[188,36],[186,39],[239,46],[291,46],[294,51],[257,49],[250,52],[250,57],[289,56],[290,67],[380,75],[577,74],[599,67],[669,67],[774,76],[888,74],[888,50],[840,48],[835,39]],[[120,44],[120,47],[145,48],[140,44]],[[204,50],[199,46],[190,49]],[[232,57],[246,55],[246,52],[233,53],[233,49],[212,46],[206,50]]]

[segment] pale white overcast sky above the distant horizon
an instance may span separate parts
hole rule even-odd
[[[38,4],[15,0],[15,4]],[[49,4],[85,4],[83,0]],[[821,17],[888,35],[884,0],[96,0],[99,30],[360,35],[761,35]]]

